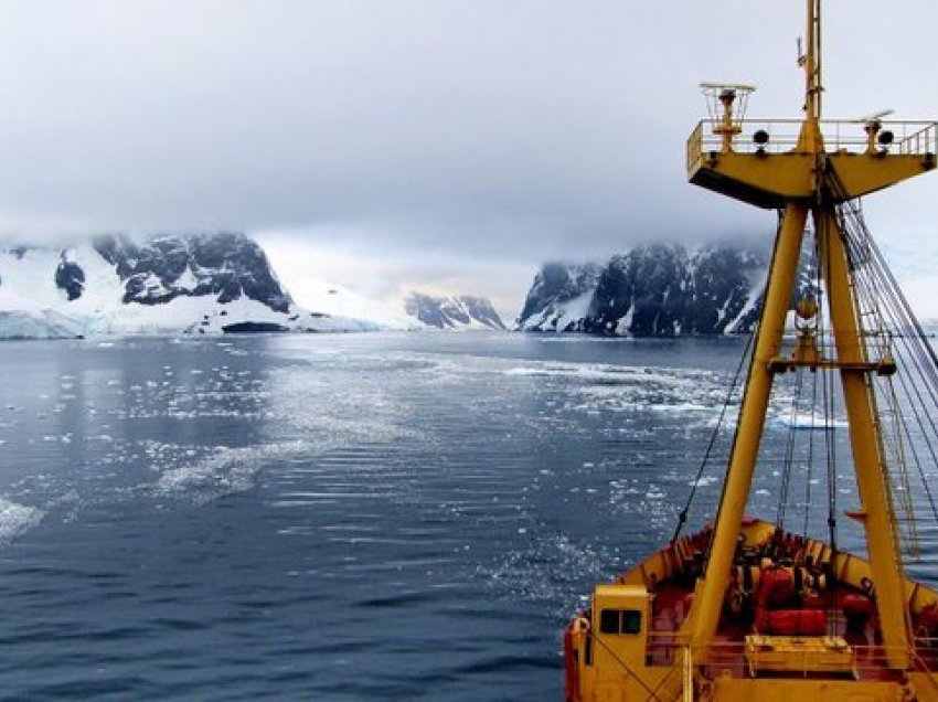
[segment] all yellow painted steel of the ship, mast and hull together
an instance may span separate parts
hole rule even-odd
[[[888,476],[877,442],[871,375],[895,372],[895,362],[867,358],[860,329],[857,301],[850,262],[839,230],[836,206],[850,199],[882,190],[935,169],[938,126],[906,132],[895,152],[877,147],[878,121],[864,126],[860,151],[842,148],[834,137],[825,151],[821,131],[821,0],[807,0],[807,51],[799,62],[804,71],[804,118],[790,150],[768,152],[760,138],[754,151],[736,148],[745,124],[734,118],[732,91],[721,94],[724,114],[712,125],[708,141],[702,123],[687,140],[691,182],[759,208],[784,211],[766,290],[763,318],[756,336],[753,364],[727,467],[724,493],[713,528],[708,560],[697,579],[690,614],[682,603],[675,616],[685,617],[664,649],[672,660],[661,661],[658,632],[612,636],[597,632],[603,609],[641,610],[651,619],[654,584],[685,575],[690,541],[682,536],[670,549],[652,554],[616,585],[597,587],[589,616],[575,619],[569,629],[576,661],[576,702],[629,700],[923,700],[938,702],[938,674],[926,672],[917,658],[910,615],[938,606],[938,593],[906,579],[894,523]],[[841,123],[845,124],[845,123]],[[915,124],[915,123],[910,123]],[[882,143],[888,145],[889,140]],[[849,142],[848,142],[849,143]],[[836,187],[832,187],[835,181]],[[811,215],[820,249],[820,268],[828,294],[836,358],[818,348],[811,332],[793,355],[781,353],[804,226]],[[802,309],[802,318],[817,313]],[[840,583],[860,587],[865,578],[875,585],[875,605],[882,646],[846,646],[829,637],[747,637],[746,642],[716,641],[715,634],[729,585],[731,566],[742,533],[744,543],[764,543],[774,532],[768,522],[745,520],[753,477],[765,428],[766,412],[776,373],[795,368],[838,369],[850,423],[862,511],[856,514],[866,532],[868,562],[834,552],[829,544],[809,540],[806,555],[829,563]],[[686,615],[686,616],[685,616]],[[625,616],[625,615],[623,615]],[[625,619],[622,620],[625,621]],[[625,625],[623,625],[625,626]],[[655,641],[651,655],[652,639]],[[771,645],[771,646],[769,646]],[[737,648],[733,648],[733,647]],[[748,647],[748,648],[747,648]],[[875,664],[870,661],[878,657]],[[667,658],[667,656],[665,656]],[[739,674],[727,661],[746,661]],[[867,669],[856,667],[866,661]],[[767,671],[769,678],[747,677]],[[859,676],[853,679],[851,676]]]

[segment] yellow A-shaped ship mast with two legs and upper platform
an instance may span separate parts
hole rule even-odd
[[[784,211],[710,560],[697,583],[689,623],[691,647],[700,649],[710,644],[718,625],[736,539],[758,458],[772,380],[779,369],[777,361],[782,331],[804,225],[810,214],[819,243],[836,349],[835,360],[818,359],[814,364],[824,362],[828,368],[833,365],[840,371],[884,644],[889,651],[891,667],[906,669],[910,634],[902,561],[894,538],[886,466],[878,450],[873,390],[867,377],[878,366],[866,358],[836,206],[931,170],[935,155],[927,147],[917,150],[914,145],[893,152],[876,149],[875,137],[881,129],[878,123],[867,125],[872,146],[864,153],[841,149],[830,153],[825,151],[821,131],[821,1],[808,0],[807,6],[807,51],[799,59],[806,75],[804,118],[793,148],[769,152],[765,147],[770,136],[757,132],[755,141],[759,148],[748,152],[734,149],[733,139],[742,129],[727,130],[732,121],[732,97],[728,104],[724,104],[726,124],[722,121],[713,129],[721,137],[713,145],[717,148],[708,150],[702,126],[689,141],[691,182],[756,206]],[[833,179],[836,180],[836,189],[831,188]]]

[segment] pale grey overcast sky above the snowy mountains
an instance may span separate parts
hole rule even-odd
[[[306,277],[490,295],[649,238],[768,241],[687,185],[700,81],[798,117],[803,0],[0,1],[0,233],[245,231]],[[938,2],[827,3],[825,116],[938,118]],[[938,177],[866,203],[938,316]]]

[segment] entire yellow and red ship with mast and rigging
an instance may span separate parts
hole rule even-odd
[[[862,209],[935,170],[938,124],[822,119],[821,0],[804,4],[802,114],[747,119],[752,86],[706,83],[708,118],[687,140],[691,183],[777,213],[735,429],[723,412],[714,429],[732,437],[721,494],[690,531],[692,488],[671,540],[572,618],[567,702],[938,700],[938,592],[927,568],[924,583],[907,575],[929,508],[938,524],[938,358]],[[763,446],[782,383],[820,432],[793,422],[786,446]],[[774,519],[748,513],[766,464]],[[855,479],[849,510],[843,472]],[[799,529],[784,493],[806,474],[827,494],[802,501]],[[845,526],[857,553],[840,545]]]

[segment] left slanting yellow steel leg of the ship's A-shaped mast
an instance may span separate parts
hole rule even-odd
[[[733,565],[733,555],[736,552],[736,536],[739,534],[743,513],[749,499],[771,393],[774,373],[769,370],[769,361],[779,353],[807,217],[808,208],[799,203],[789,204],[778,233],[765,309],[759,322],[739,425],[736,428],[733,456],[726,472],[726,486],[716,519],[710,563],[691,609],[692,645],[701,646],[713,638],[720,623],[720,613],[723,610],[723,597],[729,582],[729,566]]]

